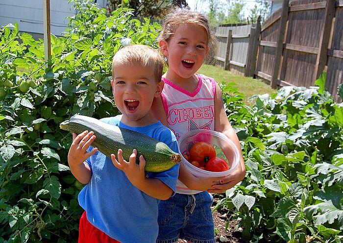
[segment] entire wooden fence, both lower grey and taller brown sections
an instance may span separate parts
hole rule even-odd
[[[217,63],[270,86],[313,86],[326,71],[336,98],[343,83],[343,0],[283,1],[261,26],[219,26]]]

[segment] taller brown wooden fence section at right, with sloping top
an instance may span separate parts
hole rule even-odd
[[[313,86],[326,71],[338,100],[343,83],[343,0],[283,1],[261,27],[255,75],[271,87]]]

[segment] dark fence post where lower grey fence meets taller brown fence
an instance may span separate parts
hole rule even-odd
[[[246,59],[245,76],[254,76],[256,69],[257,49],[261,32],[261,15],[257,18],[255,27],[251,27],[249,39],[249,51]]]

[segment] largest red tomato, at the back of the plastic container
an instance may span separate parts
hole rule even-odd
[[[198,142],[191,147],[190,157],[192,161],[199,162],[200,166],[205,166],[207,161],[216,157],[216,150],[214,146],[206,142]]]

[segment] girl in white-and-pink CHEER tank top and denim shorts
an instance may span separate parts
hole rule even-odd
[[[154,100],[154,116],[168,125],[177,139],[194,129],[222,132],[240,150],[241,161],[237,171],[222,178],[197,178],[181,164],[176,194],[159,203],[157,242],[172,243],[180,238],[214,243],[210,193],[222,193],[244,179],[241,146],[225,114],[219,85],[196,73],[216,46],[208,20],[197,12],[174,10],[163,26],[159,45],[169,70],[162,77],[161,97]]]

